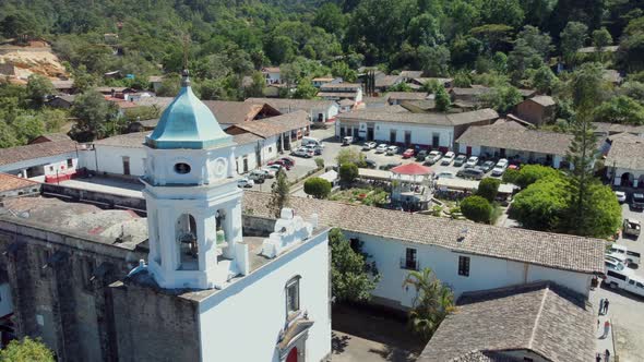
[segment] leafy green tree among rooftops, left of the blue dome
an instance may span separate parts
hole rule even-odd
[[[76,118],[72,132],[81,138],[85,137],[82,134],[90,140],[102,137],[107,133],[108,122],[115,120],[116,112],[116,106],[105,100],[100,93],[85,92],[76,97],[72,107],[72,116]]]

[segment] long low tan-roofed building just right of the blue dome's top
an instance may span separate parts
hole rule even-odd
[[[248,98],[246,102],[266,104],[282,113],[303,110],[312,122],[329,122],[339,112],[339,105],[334,100],[287,99],[287,98]]]

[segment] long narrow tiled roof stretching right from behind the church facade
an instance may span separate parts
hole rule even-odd
[[[245,192],[243,207],[270,217],[271,195]],[[604,273],[604,242],[598,239],[502,228],[331,201],[290,197],[297,213],[318,213],[320,222],[347,231],[431,244],[449,250],[580,273]],[[402,227],[404,226],[404,227]]]

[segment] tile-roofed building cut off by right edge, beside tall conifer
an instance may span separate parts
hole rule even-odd
[[[604,165],[607,177],[616,186],[644,186],[644,138],[632,134],[610,137],[612,144]]]

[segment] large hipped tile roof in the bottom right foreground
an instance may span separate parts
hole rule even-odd
[[[546,361],[593,361],[595,321],[583,297],[553,282],[466,293],[417,361],[498,361],[480,355],[516,350]]]

